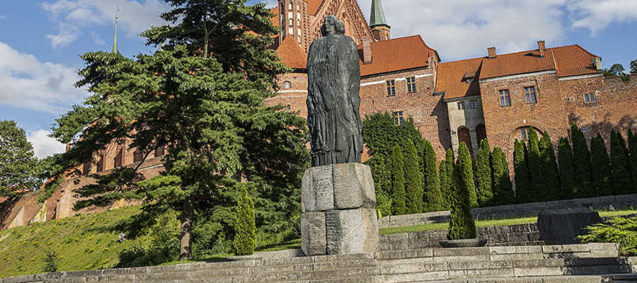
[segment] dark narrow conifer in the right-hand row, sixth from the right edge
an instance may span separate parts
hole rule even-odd
[[[544,131],[540,139],[540,156],[542,160],[542,176],[547,189],[547,200],[558,200],[560,197],[560,178],[553,142],[549,132]]]

